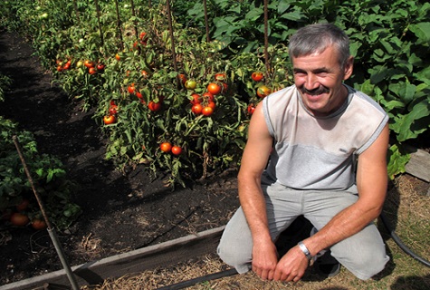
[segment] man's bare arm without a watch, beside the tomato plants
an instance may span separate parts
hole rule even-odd
[[[272,150],[272,136],[263,117],[263,103],[253,112],[238,175],[239,199],[253,236],[253,271],[272,279],[278,261],[269,233],[261,176]]]

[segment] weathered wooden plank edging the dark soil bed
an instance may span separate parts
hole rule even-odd
[[[72,266],[78,285],[95,285],[104,279],[140,273],[162,266],[186,262],[197,256],[215,253],[224,227],[215,227],[196,235],[180,237],[158,245],[144,247],[128,253],[106,257],[97,261]],[[49,285],[46,288],[46,285]],[[0,286],[0,290],[65,289],[70,287],[64,270],[40,275]]]

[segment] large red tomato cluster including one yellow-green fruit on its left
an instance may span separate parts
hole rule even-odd
[[[194,92],[197,83],[194,80],[186,80],[186,77],[181,74],[179,78],[182,80],[186,90],[192,91],[191,93],[191,111],[195,115],[211,116],[216,108],[215,96],[225,92],[228,89],[228,84],[225,82],[225,73],[216,73],[215,82],[210,82],[206,87],[206,92],[202,95]]]

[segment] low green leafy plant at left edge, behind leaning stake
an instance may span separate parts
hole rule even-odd
[[[17,124],[0,116],[0,212],[5,218],[14,212],[20,212],[28,218],[41,218],[38,204],[33,197],[33,190],[24,173],[23,164],[18,156],[12,137],[19,141],[24,159],[32,173],[36,190],[43,198],[43,203],[59,229],[69,227],[80,214],[81,208],[72,203],[75,185],[65,176],[62,162],[52,156],[39,154],[33,135],[28,131],[18,131]],[[28,205],[20,207],[23,201]]]

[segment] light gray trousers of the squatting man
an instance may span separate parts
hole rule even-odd
[[[279,183],[262,188],[273,241],[301,215],[320,230],[341,210],[358,200],[355,186],[346,191],[295,190]],[[389,260],[384,241],[373,223],[333,245],[330,250],[331,256],[342,266],[363,280],[382,271]],[[242,208],[238,208],[227,223],[217,252],[238,273],[251,269],[253,238]]]

